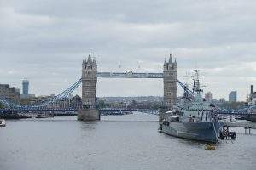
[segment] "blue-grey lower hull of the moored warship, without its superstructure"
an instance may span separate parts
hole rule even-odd
[[[216,143],[223,122],[163,122],[162,133],[183,139]]]

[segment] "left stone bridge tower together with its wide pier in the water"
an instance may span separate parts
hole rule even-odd
[[[82,109],[79,110],[78,120],[94,121],[99,120],[99,111],[96,109],[96,59],[83,60],[82,64]]]

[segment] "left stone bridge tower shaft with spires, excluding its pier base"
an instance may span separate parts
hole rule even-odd
[[[96,59],[83,60],[82,64],[82,106],[87,109],[96,108]]]

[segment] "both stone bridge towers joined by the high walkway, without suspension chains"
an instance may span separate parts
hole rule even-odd
[[[177,61],[164,62],[163,73],[137,73],[137,72],[97,72],[96,59],[88,58],[82,63],[82,107],[79,111],[79,120],[99,119],[99,111],[96,110],[96,82],[97,78],[163,78],[164,105],[171,109],[177,99]]]

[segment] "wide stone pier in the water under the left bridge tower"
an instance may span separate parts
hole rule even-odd
[[[100,111],[97,109],[80,109],[78,121],[99,121],[101,120]]]

